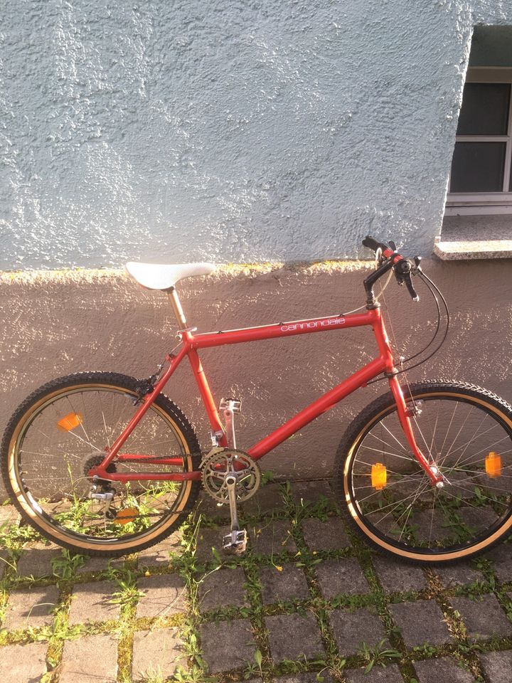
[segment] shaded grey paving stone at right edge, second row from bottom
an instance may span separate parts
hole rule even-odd
[[[450,602],[461,615],[471,640],[490,638],[493,635],[512,635],[512,624],[494,595],[485,595],[483,600],[477,601],[451,598]]]

